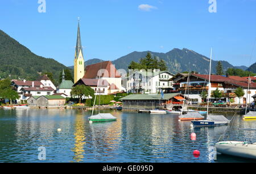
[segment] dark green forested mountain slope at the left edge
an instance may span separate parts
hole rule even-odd
[[[59,82],[60,72],[67,69],[52,58],[37,56],[2,30],[0,30],[0,62],[0,78],[36,80],[40,73],[49,72],[53,74],[56,84]]]

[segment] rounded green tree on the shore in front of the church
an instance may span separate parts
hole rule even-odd
[[[81,103],[81,99],[83,96],[85,97],[94,97],[94,90],[89,87],[89,86],[85,86],[85,85],[77,85],[75,87],[72,88],[71,90],[71,95],[72,97],[79,97],[79,103]]]

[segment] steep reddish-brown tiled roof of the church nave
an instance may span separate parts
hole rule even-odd
[[[101,71],[100,70],[104,70]],[[118,73],[117,69],[115,69],[114,65],[110,61],[96,63],[93,65],[88,65],[85,67],[85,75],[83,78],[85,79],[94,79],[101,75],[101,77],[113,77],[119,78],[121,75]]]

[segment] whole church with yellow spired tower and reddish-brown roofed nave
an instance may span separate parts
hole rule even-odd
[[[80,23],[77,28],[77,41],[74,60],[74,85],[90,86],[95,91],[95,94],[109,95],[117,94],[119,92],[125,92],[125,87],[122,86],[121,74],[115,69],[115,66],[111,61],[105,61],[95,63],[93,65],[84,65],[84,53],[82,51],[82,42],[80,35]],[[95,82],[98,82],[98,78],[104,82],[98,87]]]

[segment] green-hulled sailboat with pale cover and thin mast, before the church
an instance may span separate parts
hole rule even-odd
[[[98,78],[98,83],[97,83],[97,88],[96,88],[96,94],[98,91],[98,84],[100,83],[100,76]],[[100,91],[100,90],[99,90]],[[100,94],[101,95],[101,94]],[[100,99],[99,99],[100,100]],[[94,98],[94,103],[93,103],[93,111],[92,111],[92,116],[88,118],[90,122],[105,122],[105,121],[115,121],[117,120],[116,117],[114,117],[111,113],[98,113],[97,115],[93,115],[94,112],[94,106],[95,106],[95,101],[96,101],[96,96]]]

